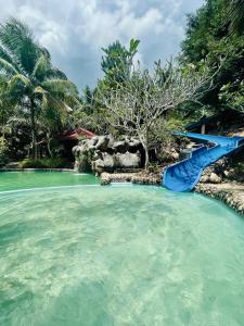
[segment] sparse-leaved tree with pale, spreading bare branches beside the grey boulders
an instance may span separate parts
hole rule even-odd
[[[158,125],[162,128],[167,113],[180,104],[197,102],[206,85],[211,87],[206,70],[200,73],[193,65],[181,70],[172,63],[163,68],[157,62],[153,74],[139,67],[116,88],[107,89],[108,93],[100,92],[98,100],[108,109],[106,120],[112,126],[140,139],[147,170],[153,130]]]

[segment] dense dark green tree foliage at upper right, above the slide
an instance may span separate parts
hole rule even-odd
[[[203,60],[207,60],[214,68],[220,66],[215,74],[215,88],[202,99],[202,103],[211,111],[226,108],[242,110],[244,35],[230,34],[230,29],[234,29],[234,20],[243,21],[243,0],[207,0],[196,15],[188,18],[182,64],[193,63],[198,67]]]

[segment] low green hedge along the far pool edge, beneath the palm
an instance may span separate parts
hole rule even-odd
[[[26,159],[18,163],[21,168],[64,168],[69,165],[69,162],[62,158]]]

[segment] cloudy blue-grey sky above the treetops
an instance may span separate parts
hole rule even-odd
[[[204,0],[0,0],[0,21],[10,15],[27,23],[53,63],[82,89],[101,77],[102,47],[118,39],[141,40],[138,59],[177,55],[184,37],[185,14]]]

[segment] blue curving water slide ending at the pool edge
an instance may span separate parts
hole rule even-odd
[[[194,133],[177,133],[177,135],[201,141],[202,146],[193,150],[189,159],[165,168],[163,186],[174,191],[191,191],[198,183],[204,168],[244,145],[244,138],[239,136],[223,137]]]

